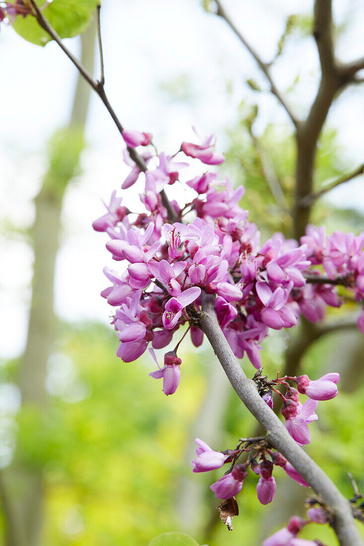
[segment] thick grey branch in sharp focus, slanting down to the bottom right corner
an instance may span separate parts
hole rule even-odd
[[[297,472],[312,486],[317,494],[321,494],[324,502],[333,509],[333,528],[340,545],[362,545],[363,541],[356,529],[349,502],[342,496],[325,472],[297,445],[275,413],[263,402],[254,381],[245,376],[221,331],[216,317],[214,296],[202,293],[202,309],[199,327],[208,337],[240,400],[267,431],[267,437],[272,446],[291,462]]]

